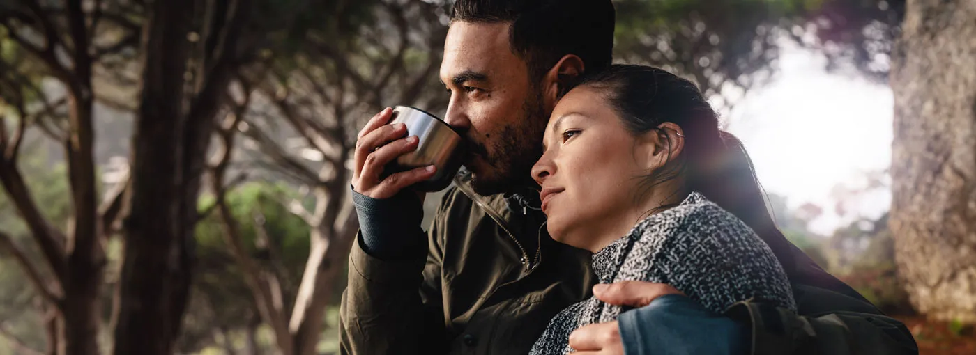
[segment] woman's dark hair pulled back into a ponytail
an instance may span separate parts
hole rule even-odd
[[[683,131],[684,148],[671,163],[641,178],[641,193],[684,173],[687,191],[739,217],[772,249],[793,279],[793,245],[766,209],[764,193],[742,141],[718,129],[718,117],[695,84],[645,65],[614,64],[577,85],[599,89],[634,136],[671,122]],[[635,196],[642,198],[642,196]]]

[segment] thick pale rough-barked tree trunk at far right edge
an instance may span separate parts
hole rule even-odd
[[[918,311],[976,322],[976,2],[907,6],[891,75],[896,260]]]

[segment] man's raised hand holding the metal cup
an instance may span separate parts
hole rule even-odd
[[[434,174],[434,167],[431,165],[380,179],[386,164],[417,149],[416,136],[403,138],[407,134],[406,126],[402,123],[386,124],[392,117],[392,112],[391,108],[384,108],[366,123],[366,127],[356,137],[353,153],[356,165],[352,171],[352,189],[372,198],[392,197],[404,187],[426,180]]]

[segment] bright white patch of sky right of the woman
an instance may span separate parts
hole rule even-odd
[[[865,184],[866,173],[891,164],[891,89],[852,75],[829,73],[826,59],[787,46],[779,72],[724,117],[742,139],[768,193],[791,208],[824,208],[810,229],[830,235],[855,216],[877,217],[891,201],[885,189],[859,197],[844,217],[834,212],[837,186]],[[843,195],[841,193],[841,195]]]

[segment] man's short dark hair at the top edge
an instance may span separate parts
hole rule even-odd
[[[525,60],[533,83],[566,55],[584,70],[610,65],[615,14],[610,0],[457,0],[451,20],[511,21],[509,43]]]

